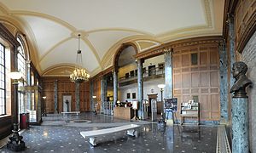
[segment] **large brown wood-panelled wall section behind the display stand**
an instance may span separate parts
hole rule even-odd
[[[197,64],[192,65],[191,54],[197,54]],[[195,59],[196,61],[196,59]],[[219,65],[216,43],[174,48],[173,94],[180,104],[197,95],[201,105],[201,121],[218,121]]]

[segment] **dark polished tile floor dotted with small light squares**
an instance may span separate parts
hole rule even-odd
[[[78,122],[73,122],[79,120]],[[80,122],[86,120],[87,122]],[[111,123],[111,124],[109,124]],[[168,126],[160,130],[156,122],[132,122],[140,124],[138,138],[128,136],[124,132],[111,133],[98,137],[96,147],[90,145],[81,135],[81,131],[90,131],[116,125],[125,125],[131,122],[113,119],[110,116],[82,113],[79,116],[44,117],[42,126],[32,126],[21,135],[26,142],[26,150],[22,152],[200,152],[215,153],[218,127],[209,126]],[[92,126],[93,125],[93,126]],[[106,126],[104,126],[106,125]],[[12,152],[6,146],[0,149],[1,153]]]

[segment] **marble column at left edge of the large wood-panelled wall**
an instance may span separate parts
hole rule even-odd
[[[172,48],[165,49],[165,84],[166,87],[164,88],[165,93],[165,99],[172,99],[173,98],[173,83],[172,83]],[[163,102],[165,106],[165,102]],[[171,112],[171,110],[165,110],[164,109],[164,116],[166,116],[166,119],[172,119],[172,113],[166,113]]]

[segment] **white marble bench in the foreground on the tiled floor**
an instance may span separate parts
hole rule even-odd
[[[139,127],[139,125],[129,124],[129,125],[124,125],[124,126],[120,126],[120,127],[111,127],[111,128],[106,128],[106,129],[100,129],[100,130],[80,132],[80,134],[84,137],[84,139],[89,138],[90,144],[92,144],[93,146],[96,146],[96,136],[98,136],[98,135],[104,135],[104,134],[108,134],[108,133],[116,133],[119,131],[127,130],[128,135],[137,137],[137,131],[135,130],[136,127]]]

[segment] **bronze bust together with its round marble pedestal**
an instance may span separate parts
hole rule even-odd
[[[247,78],[247,65],[237,61],[232,65],[232,76],[236,79],[230,88],[232,97],[232,152],[249,152],[248,97],[246,88],[253,84]]]

